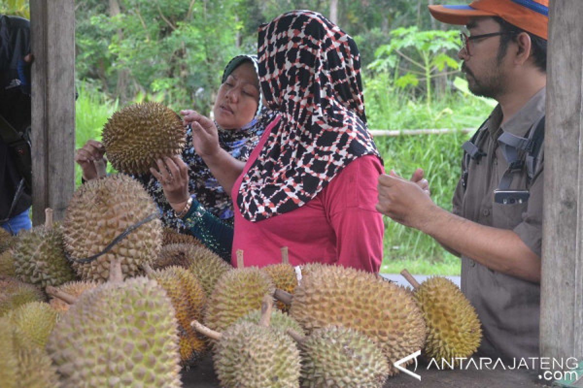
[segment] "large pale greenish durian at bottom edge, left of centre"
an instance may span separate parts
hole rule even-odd
[[[47,352],[64,387],[180,387],[177,331],[166,291],[135,277],[83,293]]]

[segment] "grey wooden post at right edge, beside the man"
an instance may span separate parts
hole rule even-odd
[[[540,352],[583,359],[583,1],[550,2]]]

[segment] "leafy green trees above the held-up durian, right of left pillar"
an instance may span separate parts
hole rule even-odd
[[[116,3],[116,6],[112,6]],[[208,112],[220,69],[238,54],[243,1],[85,0],[76,12],[76,70],[121,102],[155,96]]]

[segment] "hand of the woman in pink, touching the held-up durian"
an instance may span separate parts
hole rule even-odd
[[[184,125],[192,126],[192,145],[203,159],[212,158],[220,151],[219,133],[215,123],[196,111],[180,111]]]

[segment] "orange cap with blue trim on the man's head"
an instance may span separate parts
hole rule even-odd
[[[470,5],[430,5],[429,12],[440,22],[462,25],[471,17],[500,16],[543,39],[549,35],[549,0],[476,0]]]

